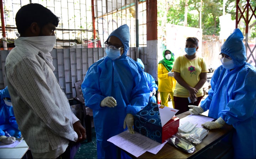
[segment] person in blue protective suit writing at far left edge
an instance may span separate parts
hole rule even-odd
[[[16,141],[16,138],[21,138],[21,132],[18,129],[18,124],[14,117],[8,86],[0,90],[0,96],[0,142],[11,144]]]

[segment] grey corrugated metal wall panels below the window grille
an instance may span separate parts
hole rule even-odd
[[[127,56],[135,58],[135,47],[130,47]],[[0,89],[7,86],[4,72],[5,59],[10,50],[0,50]],[[79,80],[84,80],[88,68],[98,59],[106,56],[105,48],[74,48],[74,49],[53,49],[51,52],[54,74],[60,86],[66,93],[68,99],[76,96],[74,84]],[[139,55],[147,70],[146,49],[139,48]]]

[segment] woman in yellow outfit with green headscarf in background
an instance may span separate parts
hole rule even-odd
[[[174,88],[176,80],[173,72],[171,72],[174,65],[174,53],[165,49],[162,53],[164,59],[158,63],[158,91],[160,92],[161,104],[168,106],[168,95],[170,94],[172,100],[172,107],[174,108]]]

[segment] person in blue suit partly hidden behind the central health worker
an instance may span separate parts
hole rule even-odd
[[[153,78],[152,75],[150,75],[149,73],[144,72],[145,66],[142,62],[142,60],[140,58],[137,58],[137,63],[139,64],[139,66],[142,68],[146,82],[149,86],[150,89],[150,95],[149,95],[149,103],[148,105],[153,102],[156,103],[156,90],[158,90],[158,85],[155,83],[155,79]]]

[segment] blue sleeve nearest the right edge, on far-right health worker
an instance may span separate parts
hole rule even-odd
[[[221,110],[219,116],[227,124],[244,121],[253,116],[256,109],[256,71],[242,69],[235,77],[230,88],[230,100],[226,109]]]

